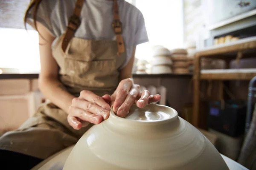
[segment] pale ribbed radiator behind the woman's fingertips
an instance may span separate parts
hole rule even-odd
[[[158,105],[166,105],[166,88],[164,86],[140,86],[141,91],[148,90],[151,95],[160,94],[161,99],[159,102],[155,102],[154,104]]]

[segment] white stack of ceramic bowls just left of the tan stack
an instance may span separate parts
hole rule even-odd
[[[171,51],[163,46],[157,46],[153,49],[151,59],[151,74],[171,74],[172,60]]]

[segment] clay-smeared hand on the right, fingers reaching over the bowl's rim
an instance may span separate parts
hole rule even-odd
[[[158,102],[160,95],[150,95],[150,92],[140,91],[140,85],[134,85],[132,79],[123,79],[116,91],[111,96],[110,105],[119,117],[125,117],[131,106],[136,103],[139,108],[144,108],[149,102]]]

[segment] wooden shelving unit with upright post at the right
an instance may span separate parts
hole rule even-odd
[[[201,59],[224,59],[227,65],[232,59],[256,58],[256,37],[244,38],[236,42],[215,45],[198,51],[195,54],[195,71],[194,71],[194,99],[193,99],[193,119],[192,124],[199,127],[200,118],[200,82],[201,80],[250,80],[256,76],[256,69],[223,69],[223,70],[201,70]],[[223,92],[219,92],[220,94]],[[206,120],[203,120],[206,121]]]

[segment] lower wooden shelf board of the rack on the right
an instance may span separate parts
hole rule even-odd
[[[256,73],[204,73],[200,79],[211,80],[250,80],[256,76]]]

